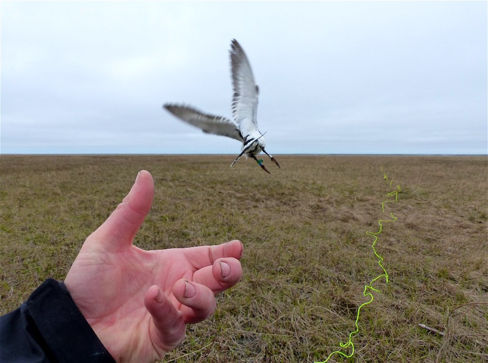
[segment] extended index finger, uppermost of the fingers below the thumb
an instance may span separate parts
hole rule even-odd
[[[185,248],[184,253],[194,269],[199,270],[205,266],[212,266],[219,258],[233,257],[240,259],[243,253],[243,246],[242,242],[234,240],[215,246]]]

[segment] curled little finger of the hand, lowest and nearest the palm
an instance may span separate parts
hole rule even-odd
[[[156,346],[168,351],[184,340],[185,320],[157,285],[147,289],[144,306],[153,319],[154,329],[149,333]]]

